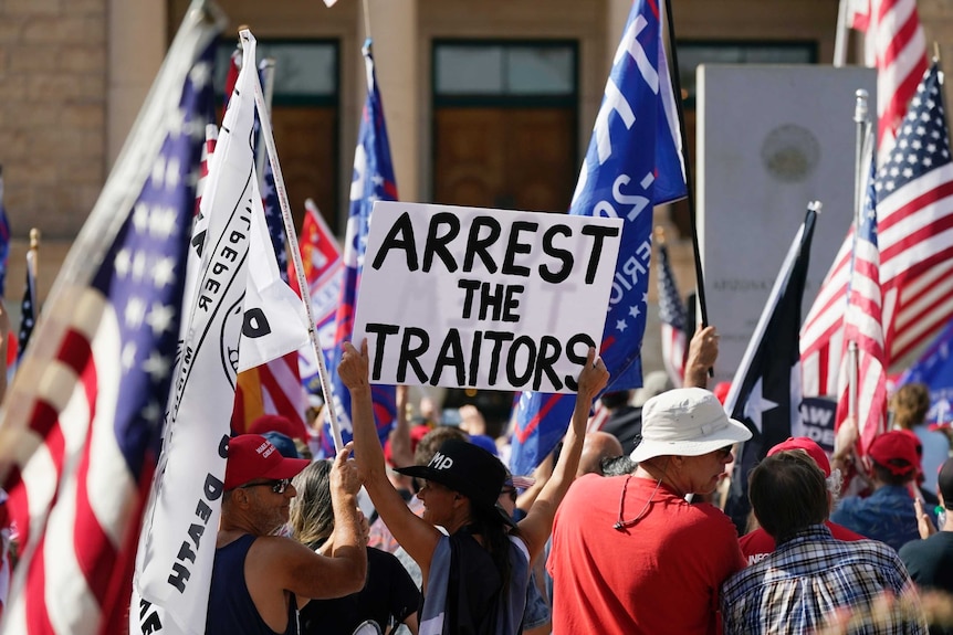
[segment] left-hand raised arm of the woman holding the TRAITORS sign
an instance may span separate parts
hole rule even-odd
[[[440,531],[413,515],[400,494],[394,489],[387,478],[387,467],[384,464],[384,451],[374,424],[374,404],[370,399],[370,382],[368,381],[367,341],[360,345],[358,351],[350,342],[345,342],[344,354],[337,367],[341,381],[350,391],[350,419],[354,426],[354,455],[357,465],[364,474],[364,487],[370,495],[370,500],[377,508],[380,518],[390,529],[397,542],[420,565],[423,579],[430,571],[430,560]]]

